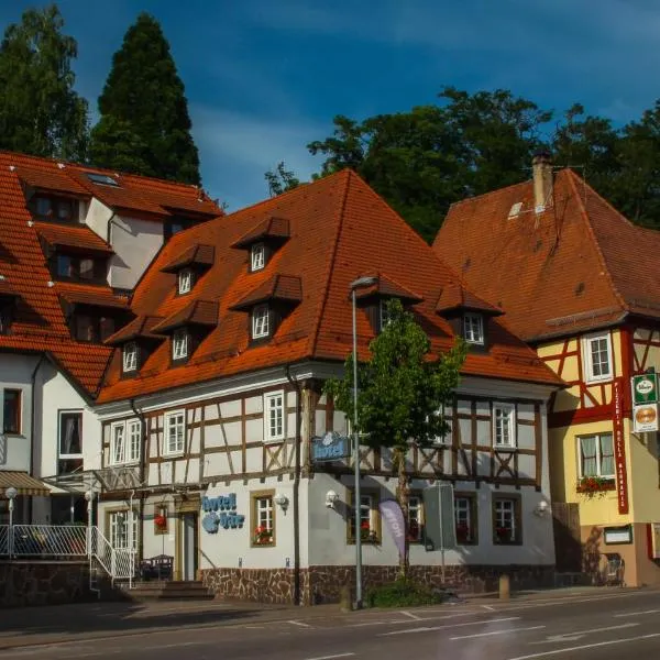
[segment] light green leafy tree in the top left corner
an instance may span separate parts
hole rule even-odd
[[[78,46],[55,4],[30,9],[0,44],[0,148],[84,161],[87,101],[74,91]]]

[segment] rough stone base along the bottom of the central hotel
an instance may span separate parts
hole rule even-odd
[[[512,590],[550,587],[554,566],[544,565],[414,565],[410,579],[433,587],[460,593],[485,593],[498,588],[499,576],[508,574]],[[398,566],[363,566],[363,590],[394,582]],[[220,598],[270,604],[294,603],[293,569],[207,569],[200,579]],[[300,570],[300,596],[305,605],[339,603],[341,590],[355,584],[354,566],[310,566]]]

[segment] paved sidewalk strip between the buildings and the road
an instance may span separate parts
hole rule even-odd
[[[482,594],[462,600],[459,603],[435,605],[426,609],[461,608],[483,612],[487,605],[515,604],[535,601],[552,601],[580,596],[597,596],[620,592],[619,587],[569,587],[512,594],[508,602],[497,598],[497,594]],[[637,590],[626,590],[637,591]],[[647,591],[647,590],[645,590]],[[652,590],[648,590],[652,591]],[[425,608],[410,608],[422,613]],[[10,648],[63,644],[91,639],[143,635],[168,630],[173,627],[187,629],[220,626],[240,626],[276,622],[312,622],[314,619],[345,619],[355,617],[369,620],[397,614],[392,609],[363,609],[343,613],[339,605],[316,605],[293,607],[289,605],[263,605],[258,603],[233,603],[228,601],[166,602],[153,603],[85,603],[47,607],[24,607],[0,612],[0,651]]]

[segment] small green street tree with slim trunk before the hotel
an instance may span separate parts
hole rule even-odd
[[[371,360],[358,365],[358,431],[373,448],[392,449],[398,476],[396,497],[408,520],[410,490],[406,474],[406,453],[414,442],[425,447],[449,430],[442,415],[459,384],[459,372],[466,344],[457,344],[443,355],[431,358],[431,344],[413,314],[400,300],[387,304],[391,321],[371,342]],[[345,361],[343,380],[330,380],[324,392],[333,397],[339,410],[355,424],[353,414],[353,358]],[[355,428],[355,427],[354,427]],[[360,530],[355,530],[360,534]],[[408,535],[402,575],[408,568]]]

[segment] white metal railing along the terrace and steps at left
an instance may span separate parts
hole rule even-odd
[[[0,557],[32,559],[88,558],[114,580],[135,575],[135,551],[113,548],[96,527],[68,525],[0,525]]]

